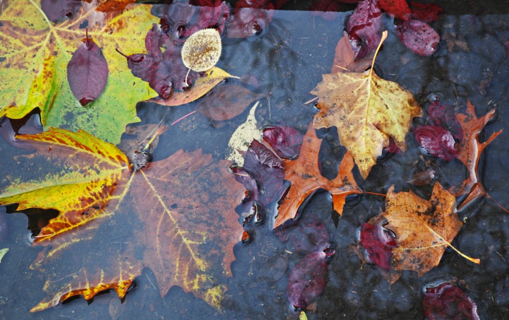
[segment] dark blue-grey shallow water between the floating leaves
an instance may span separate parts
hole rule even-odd
[[[398,82],[411,91],[425,109],[433,94],[459,110],[464,109],[468,99],[476,106],[478,116],[496,108],[496,116],[483,135],[488,137],[499,129],[509,130],[509,113],[505,110],[509,102],[509,15],[506,14],[509,7],[493,9],[472,5],[469,1],[461,4],[445,4],[445,15],[432,24],[442,40],[431,57],[417,56],[404,47],[391,32],[391,21],[386,19],[389,37],[375,68],[381,77]],[[468,6],[471,6],[470,11]],[[495,14],[499,12],[502,14]],[[302,133],[306,130],[316,108],[304,102],[314,97],[309,92],[321,81],[322,74],[329,72],[335,45],[342,37],[349,14],[339,13],[334,20],[325,21],[307,11],[278,11],[260,35],[250,39],[224,39],[218,66],[231,74],[258,77],[260,93],[269,94],[260,99],[257,108],[260,128],[288,125]],[[443,40],[445,34],[461,35],[468,51],[458,47],[449,50]],[[488,78],[491,81],[486,88],[480,88],[479,83]],[[234,80],[227,82],[233,83]],[[137,111],[142,123],[132,126],[157,124],[162,118],[169,125],[194,110],[196,104],[168,108],[140,103]],[[180,149],[200,148],[215,159],[221,159],[227,152],[230,136],[246,120],[249,109],[250,106],[238,117],[221,123],[209,121],[199,114],[187,117],[161,135],[154,161],[165,159]],[[337,170],[335,159],[341,159],[344,148],[340,146],[334,128],[319,133],[326,141],[321,148],[324,175],[333,177]],[[489,194],[500,205],[509,208],[506,196],[509,160],[505,141],[509,141],[506,132],[486,149],[482,179]],[[415,166],[423,160],[410,134],[407,144],[409,147],[404,155],[382,157],[365,182],[355,170],[359,186],[379,193],[385,193],[392,184],[408,188],[405,182],[412,179]],[[3,154],[1,172],[7,173],[16,166],[12,156],[19,151],[15,151],[5,138],[0,140],[0,150]],[[443,173],[444,184],[455,184],[464,179],[464,167],[458,161],[438,162],[438,167]],[[3,178],[0,187],[7,183]],[[420,189],[422,195],[429,191]],[[453,245],[469,256],[480,258],[480,265],[469,263],[452,249],[446,249],[438,267],[421,278],[414,272],[403,272],[402,278],[389,286],[375,266],[361,266],[353,250],[360,225],[379,213],[383,200],[376,195],[352,197],[341,218],[331,212],[327,192],[317,192],[306,201],[302,219],[312,214],[318,216],[326,225],[336,250],[328,268],[324,293],[317,299],[316,313],[306,312],[308,318],[420,319],[423,318],[423,287],[450,279],[467,289],[482,318],[506,316],[509,312],[509,266],[506,263],[509,261],[509,214],[490,199],[480,200],[460,213],[465,224]],[[6,211],[5,208],[1,210],[2,214]],[[8,247],[10,251],[0,264],[0,316],[3,318],[285,318],[296,315],[287,302],[287,277],[303,255],[285,251],[289,248],[274,235],[270,214],[264,222],[252,226],[253,241],[239,243],[234,248],[236,261],[231,266],[233,277],[228,279],[228,291],[222,303],[224,313],[177,286],[161,298],[153,272],[145,269],[122,304],[114,292],[109,292],[96,296],[89,303],[74,299],[31,314],[30,308],[45,296],[42,291],[44,275],[29,269],[39,249],[29,244],[25,215],[5,216],[9,235],[0,247]],[[103,241],[120,241],[112,238],[116,237],[111,235]]]

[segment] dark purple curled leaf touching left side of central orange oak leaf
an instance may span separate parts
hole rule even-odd
[[[251,142],[242,169],[256,180],[259,200],[264,205],[281,192],[285,176],[281,160],[259,141]]]

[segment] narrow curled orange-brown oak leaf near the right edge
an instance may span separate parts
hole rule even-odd
[[[455,196],[467,194],[467,197],[461,202],[458,209],[468,205],[471,201],[479,196],[485,196],[486,190],[480,183],[478,178],[478,166],[480,155],[488,144],[491,143],[502,130],[494,132],[485,142],[479,142],[479,134],[483,131],[484,127],[493,118],[495,109],[488,111],[483,117],[477,118],[475,115],[475,107],[470,101],[467,101],[467,109],[465,113],[456,115],[463,129],[463,137],[458,148],[458,155],[456,156],[468,170],[468,178],[460,185],[453,186],[449,189]]]

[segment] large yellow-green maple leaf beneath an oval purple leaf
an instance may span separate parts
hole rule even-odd
[[[40,1],[10,1],[0,11],[0,117],[19,119],[34,108],[48,127],[83,129],[118,143],[129,123],[138,122],[136,103],[156,94],[134,77],[115,48],[145,49],[145,36],[157,18],[151,6],[136,5],[122,12],[99,12],[82,2],[75,18],[51,22]],[[108,79],[101,96],[87,107],[74,98],[67,81],[67,64],[85,37],[102,49]]]

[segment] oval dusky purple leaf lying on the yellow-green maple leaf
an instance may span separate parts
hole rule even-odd
[[[97,44],[87,38],[74,51],[67,65],[72,94],[82,106],[87,105],[101,95],[107,78],[108,63]]]

